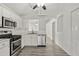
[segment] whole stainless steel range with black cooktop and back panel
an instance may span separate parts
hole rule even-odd
[[[10,39],[10,56],[17,55],[21,50],[21,35],[12,35],[11,31],[0,31],[0,38]]]

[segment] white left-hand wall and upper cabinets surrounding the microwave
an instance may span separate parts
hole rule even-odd
[[[10,8],[6,7],[3,4],[0,4],[0,17],[8,17],[11,18],[11,21],[15,21],[17,23],[16,28],[0,28],[0,30],[11,30],[12,34],[20,35],[22,33],[22,18],[12,11]],[[1,23],[2,19],[0,19]]]

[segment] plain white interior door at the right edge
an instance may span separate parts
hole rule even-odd
[[[79,55],[79,9],[72,11],[72,52]]]

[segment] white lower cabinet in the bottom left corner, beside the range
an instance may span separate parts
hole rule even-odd
[[[10,56],[9,39],[0,39],[0,56]]]

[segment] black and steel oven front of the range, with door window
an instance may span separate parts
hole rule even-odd
[[[17,55],[21,50],[21,35],[13,35],[10,40],[10,55]]]

